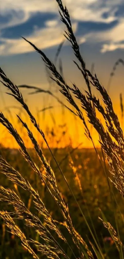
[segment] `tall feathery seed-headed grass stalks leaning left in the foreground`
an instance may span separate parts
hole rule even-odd
[[[50,75],[50,78],[54,82],[56,82],[60,92],[69,102],[69,104],[72,106],[72,109],[69,108],[67,105],[65,105],[63,102],[61,102],[61,100],[58,99],[56,96],[54,96],[54,94],[52,94],[50,90],[47,92],[50,95],[52,95],[54,98],[57,98],[58,102],[60,102],[62,106],[69,109],[70,112],[72,112],[75,116],[77,116],[82,121],[82,124],[85,129],[85,134],[87,138],[89,138],[92,141],[93,146],[95,148],[94,141],[92,139],[89,127],[87,126],[88,124],[84,116],[84,112],[86,113],[88,117],[88,122],[90,122],[90,124],[95,128],[95,130],[98,132],[100,136],[99,142],[101,144],[101,148],[103,151],[102,153],[103,158],[105,154],[106,160],[110,165],[110,171],[111,171],[110,179],[106,174],[108,184],[110,180],[123,197],[124,196],[124,169],[123,169],[124,136],[123,136],[122,128],[120,127],[118,116],[114,112],[114,108],[113,108],[113,104],[110,99],[110,96],[108,95],[106,89],[99,83],[97,75],[96,74],[93,75],[92,71],[90,72],[86,68],[86,64],[82,58],[79,45],[77,43],[77,40],[72,30],[70,15],[68,13],[66,6],[63,6],[61,0],[56,0],[56,2],[58,3],[60,18],[62,22],[66,25],[65,37],[67,38],[67,40],[70,41],[70,44],[74,51],[74,55],[77,58],[78,63],[76,61],[74,61],[74,63],[77,66],[77,69],[79,69],[80,72],[82,73],[83,78],[85,79],[87,91],[83,93],[76,86],[75,83],[73,83],[72,86],[69,86],[63,77],[61,63],[60,63],[60,73],[59,73],[55,65],[53,64],[53,62],[51,62],[49,58],[46,57],[44,52],[38,49],[38,47],[36,47],[30,41],[26,40],[25,38],[23,39],[26,40],[27,43],[29,43],[34,48],[34,50],[40,54],[40,56],[42,57],[42,60],[45,62],[45,65],[48,71],[52,74],[52,76]],[[58,53],[57,53],[57,56],[58,56]],[[56,59],[57,59],[57,56],[56,56]],[[56,59],[55,59],[55,63],[56,63]],[[50,162],[43,154],[42,148],[40,147],[36,138],[33,136],[33,133],[29,129],[27,123],[24,122],[19,115],[17,115],[18,120],[20,121],[20,123],[22,123],[22,126],[26,129],[27,135],[30,138],[34,146],[34,150],[37,153],[38,158],[42,164],[42,168],[40,168],[31,158],[28,150],[26,149],[24,141],[19,135],[18,131],[14,128],[12,123],[10,123],[10,121],[4,116],[4,114],[0,112],[0,123],[2,123],[2,125],[6,127],[6,129],[10,132],[10,134],[14,137],[14,139],[19,145],[19,150],[23,158],[30,165],[31,169],[34,170],[34,172],[38,175],[41,181],[41,184],[42,183],[44,184],[44,186],[46,187],[47,191],[50,194],[50,197],[54,200],[54,205],[58,208],[58,211],[62,214],[62,217],[63,217],[62,222],[57,222],[53,218],[53,216],[50,215],[49,209],[47,209],[47,206],[44,204],[38,191],[34,190],[30,182],[28,182],[24,177],[22,177],[22,175],[18,172],[18,170],[14,169],[9,163],[7,163],[7,161],[2,156],[0,156],[1,173],[5,174],[10,181],[12,181],[16,185],[20,186],[21,188],[29,192],[29,194],[31,195],[30,197],[32,197],[32,200],[34,202],[34,207],[36,209],[36,212],[38,211],[39,213],[38,214],[39,217],[34,213],[32,213],[29,210],[30,206],[26,207],[21,197],[19,197],[19,193],[17,194],[14,190],[0,186],[0,200],[10,204],[14,208],[14,211],[11,213],[9,211],[0,212],[0,215],[2,219],[4,219],[6,226],[10,229],[10,232],[12,234],[20,238],[22,245],[28,250],[30,254],[32,254],[34,258],[40,258],[37,255],[38,252],[42,253],[44,256],[48,258],[57,258],[57,259],[58,258],[69,259],[70,257],[80,258],[80,259],[81,258],[91,259],[96,257],[98,259],[105,258],[102,252],[101,246],[99,244],[99,240],[97,238],[97,232],[94,229],[94,224],[92,222],[91,216],[90,216],[90,219],[93,226],[93,231],[86,220],[86,217],[82,211],[81,205],[78,203],[78,200],[75,197],[74,192],[71,189],[65,177],[65,174],[63,173],[60,167],[60,164],[57,162],[56,157],[54,156],[52,150],[49,147],[49,144],[44,132],[40,128],[37,120],[34,118],[34,115],[31,113],[28,105],[24,101],[22,93],[20,92],[18,86],[16,86],[6,76],[2,68],[0,68],[0,77],[2,79],[1,81],[2,84],[9,90],[7,94],[13,96],[18,101],[18,103],[22,105],[31,123],[34,125],[34,127],[37,129],[37,131],[45,141],[48,149],[50,150],[51,156],[53,157],[54,162],[56,163],[56,167],[58,171],[61,173],[62,177],[64,178],[64,181],[68,186],[71,192],[71,195],[74,198],[74,202],[77,204],[77,208],[80,211],[84,219],[84,222],[86,223],[86,226],[89,230],[89,233],[94,243],[91,242],[91,240],[89,240],[90,245],[88,246],[87,242],[83,240],[82,236],[75,229],[70,216],[69,207],[64,201],[64,198],[58,188],[55,172],[52,169]],[[92,94],[91,86],[95,87],[98,90],[98,92],[101,94],[103,104],[101,104],[101,101]],[[26,87],[34,88],[37,93],[45,91],[36,87],[28,87],[28,86]],[[77,99],[78,99],[78,102],[76,101]],[[44,111],[46,109],[51,109],[51,108],[52,107],[44,107]],[[99,111],[101,113],[103,119],[105,120],[106,128],[102,125],[100,119],[97,117],[96,111]],[[97,152],[96,148],[95,148],[95,151]],[[98,155],[98,152],[97,152],[97,155]],[[99,161],[101,163],[103,170],[106,171],[106,168],[104,168],[104,166],[102,165],[100,158],[99,158]],[[104,159],[104,165],[105,165],[105,159]],[[70,168],[74,172],[75,181],[77,181],[79,189],[82,194],[82,186],[71,158],[70,158]],[[88,210],[88,208],[86,209]],[[42,223],[42,220],[40,219],[40,215],[44,219],[44,223]],[[27,239],[25,234],[16,225],[14,221],[14,219],[16,218],[23,220],[23,223],[26,225],[27,228],[28,227],[34,228],[36,233],[38,233],[38,235],[40,236],[41,241],[39,242],[32,238]],[[101,220],[104,226],[110,232],[110,235],[112,236],[117,246],[119,258],[123,258],[123,244],[120,240],[119,231],[117,231],[116,233],[115,229],[111,226],[111,224],[107,222],[107,219],[104,216],[103,212],[101,213]],[[69,240],[67,240],[66,236],[63,235],[62,231],[59,228],[60,225],[62,225],[63,228],[65,228],[66,231],[69,233],[70,239],[73,242],[73,246],[71,245]],[[118,224],[117,224],[117,228],[118,228]],[[63,244],[66,244],[66,247],[68,247],[71,253],[71,256],[69,256],[67,251],[64,250]],[[34,247],[35,247],[35,252],[34,252]]]

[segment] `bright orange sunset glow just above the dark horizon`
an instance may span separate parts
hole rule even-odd
[[[118,115],[120,124],[122,126],[119,103],[116,104],[116,106],[114,105],[114,108],[115,108],[115,111],[116,110],[118,111],[117,115]],[[72,147],[75,148],[81,143],[82,144],[80,145],[80,148],[93,148],[93,144],[91,140],[88,140],[84,134],[84,126],[82,121],[80,119],[75,119],[74,116],[69,111],[66,111],[65,115],[62,115],[60,111],[56,113],[54,117],[54,120],[55,120],[54,122],[50,117],[50,114],[48,113],[46,113],[45,118],[43,118],[42,115],[40,118],[37,118],[36,114],[34,114],[34,116],[37,119],[37,121],[39,119],[38,123],[40,125],[40,128],[45,133],[46,140],[48,141],[48,144],[50,145],[51,148],[56,148],[56,147],[64,148],[70,144],[72,145]],[[11,121],[13,126],[17,129],[18,133],[24,140],[26,147],[32,148],[33,145],[27,135],[27,132],[25,128],[22,127],[22,124],[17,120],[17,117],[14,115],[13,121],[9,118],[9,116],[6,116],[6,117]],[[33,132],[34,137],[38,140],[38,143],[41,144],[43,147],[46,147],[42,136],[37,132],[33,124],[30,122],[30,119],[29,118],[27,119],[27,117],[23,114],[21,115],[21,118],[24,120],[24,122],[28,124],[30,130]],[[98,118],[101,121],[103,121],[102,117],[99,116],[99,114],[98,114]],[[88,123],[87,125],[89,127],[95,146],[97,148],[100,147],[100,144],[98,141],[99,140],[98,133],[95,131],[95,129],[90,123]],[[14,140],[14,137],[11,136],[11,134],[2,125],[0,125],[0,136],[1,136],[0,142],[6,148],[19,147],[16,141]]]

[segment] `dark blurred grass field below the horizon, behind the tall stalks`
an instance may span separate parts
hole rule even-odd
[[[52,151],[54,152],[54,150]],[[70,152],[71,151],[72,150],[70,149]],[[100,157],[102,158],[101,151],[98,150],[98,152]],[[62,222],[63,220],[62,215],[61,213],[58,212],[58,208],[54,203],[53,199],[50,197],[49,192],[46,190],[43,184],[41,185],[39,178],[31,170],[28,163],[23,160],[21,154],[17,150],[14,154],[11,153],[11,150],[2,150],[1,153],[6,158],[6,161],[8,161],[16,170],[18,170],[23,177],[28,179],[35,190],[38,190],[38,193],[42,197],[43,202],[46,204],[46,207],[48,207],[50,215],[52,215],[53,218],[56,219],[58,222]],[[34,161],[39,163],[38,158],[36,157],[36,154],[33,152],[33,150],[32,151],[30,150],[30,153]],[[47,149],[45,149],[43,150],[43,153],[50,160],[50,164],[52,168],[56,169],[56,165],[54,161],[51,160],[50,152]],[[64,160],[65,154],[68,154],[68,157]],[[100,208],[102,212],[106,215],[108,222],[110,222],[111,225],[116,229],[116,222],[114,218],[114,211],[115,211],[116,217],[118,220],[118,228],[120,230],[119,233],[121,236],[121,240],[124,242],[123,198],[121,197],[121,194],[119,194],[118,191],[116,191],[115,188],[111,186],[115,195],[115,200],[113,200],[113,204],[112,204],[109,187],[106,180],[106,175],[99,163],[98,157],[94,152],[94,149],[78,149],[71,154],[71,159],[72,161],[74,161],[74,167],[76,169],[76,173],[80,179],[81,189],[79,188],[78,179],[75,176],[74,170],[70,167],[70,156],[69,156],[68,150],[66,148],[59,149],[58,152],[56,153],[56,158],[58,162],[63,161],[61,164],[62,171],[65,173],[66,179],[69,185],[71,186],[72,190],[74,190],[76,199],[78,200],[82,208],[82,211],[84,212],[84,215],[90,225],[90,228],[93,230],[93,232],[95,229],[95,232],[97,234],[97,239],[100,243],[100,246],[102,247],[103,253],[109,256],[109,257],[106,256],[105,258],[118,258],[118,250],[116,248],[116,245],[112,241],[112,238],[110,238],[109,240],[108,237],[110,237],[110,233],[103,226],[101,220],[98,219],[98,216],[101,217],[101,212],[99,210]],[[103,161],[102,161],[102,164],[103,164]],[[40,163],[38,165],[40,167]],[[109,167],[107,164],[106,164],[106,168],[108,171]],[[74,198],[72,197],[70,191],[68,190],[66,183],[64,182],[62,176],[60,175],[59,170],[56,169],[54,170],[54,172],[57,179],[58,188],[62,192],[65,202],[68,203],[69,205],[71,219],[72,219],[72,222],[74,223],[75,228],[87,243],[89,243],[89,240],[94,243],[94,240],[92,240],[92,236],[89,233],[86,223],[82,217],[82,214],[80,213],[74,201]],[[17,194],[21,197],[25,205],[28,208],[30,208],[30,211],[35,212],[35,214],[38,215],[38,213],[36,213],[36,210],[34,210],[33,202],[29,193],[24,191],[19,186],[17,189],[17,186],[16,185],[14,186],[14,184],[8,181],[7,178],[2,174],[1,174],[1,185],[5,188],[9,187],[14,189],[15,192],[17,192]],[[11,207],[6,206],[6,203],[4,204],[0,203],[0,210],[13,211]],[[40,215],[38,215],[38,217],[42,219]],[[18,225],[21,227],[22,231],[25,232],[27,238],[31,237],[40,241],[39,235],[35,233],[32,229],[26,228],[19,220],[16,220],[16,222],[18,222]],[[17,258],[17,256],[18,258],[32,258],[32,256],[30,256],[26,252],[26,250],[21,246],[20,240],[8,232],[8,229],[5,227],[3,220],[1,220],[0,226],[1,226],[1,247],[0,247],[1,257],[0,258],[12,258],[12,257]],[[66,235],[66,238],[68,239],[68,241],[70,241],[70,236],[68,232],[65,229],[63,229],[62,226],[60,226],[60,229],[62,230],[63,234]],[[70,242],[70,244],[73,247],[72,242]],[[63,246],[63,248],[68,253],[70,258],[73,258],[71,253],[68,251],[68,248],[65,245]],[[43,256],[39,258],[42,258],[42,257]]]

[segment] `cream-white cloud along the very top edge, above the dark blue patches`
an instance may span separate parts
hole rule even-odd
[[[122,0],[118,0],[118,5]],[[63,1],[66,4],[70,16],[73,19],[77,19],[80,21],[98,21],[108,23],[115,19],[114,12],[116,10],[113,9],[114,6],[117,6],[117,1],[108,0],[106,1],[106,6],[101,7],[102,0],[66,0]],[[25,22],[31,13],[35,12],[52,12],[58,14],[58,4],[55,0],[0,0],[0,13],[3,15],[7,15],[11,10],[15,12],[22,11],[23,18],[18,18],[13,13],[14,23],[12,21],[6,26],[10,26],[10,24],[16,25],[19,23]],[[97,11],[97,13],[96,13]],[[102,17],[104,12],[110,12],[110,15],[107,19]],[[12,20],[13,20],[12,19]],[[1,26],[1,25],[0,25]]]

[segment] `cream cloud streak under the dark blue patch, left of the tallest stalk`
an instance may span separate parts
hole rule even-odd
[[[63,30],[64,27],[60,23],[52,23],[49,21],[49,27],[37,30],[35,28],[31,36],[26,37],[27,40],[34,43],[38,48],[45,49],[60,44],[64,39]],[[77,23],[72,24],[73,30],[77,30]],[[0,45],[0,55],[8,56],[13,54],[21,54],[34,51],[33,47],[30,46],[24,39],[4,39],[1,38],[3,44]],[[5,41],[5,42],[4,42]],[[65,44],[68,44],[66,41]]]

